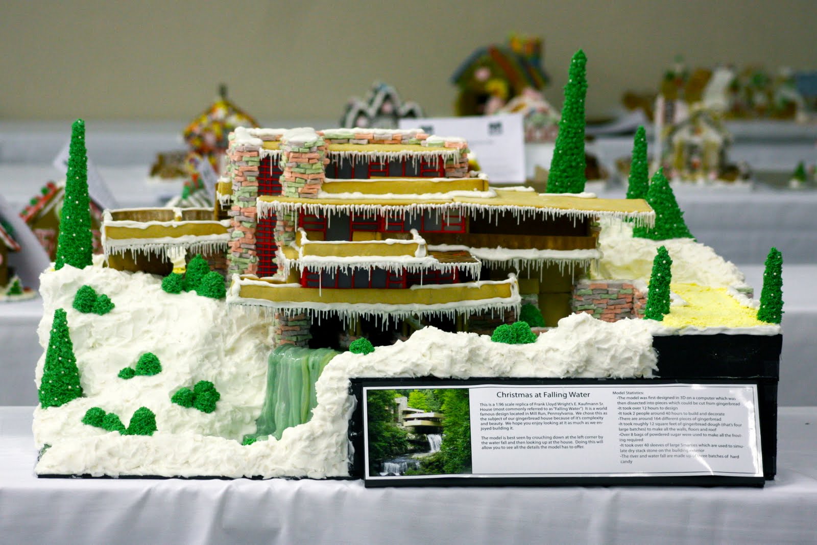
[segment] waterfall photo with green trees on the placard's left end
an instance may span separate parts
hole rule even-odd
[[[471,473],[467,388],[368,389],[369,476]]]

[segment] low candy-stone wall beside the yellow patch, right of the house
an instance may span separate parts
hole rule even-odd
[[[646,294],[627,280],[579,280],[574,288],[572,308],[605,322],[623,318],[643,318]]]

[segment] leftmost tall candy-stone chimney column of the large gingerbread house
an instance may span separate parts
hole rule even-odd
[[[261,141],[278,141],[279,135],[261,134]],[[230,217],[229,275],[255,275],[258,271],[258,254],[256,250],[256,226],[258,211],[258,173],[261,157],[270,152],[261,145],[248,143],[236,144],[230,135],[230,146],[227,149],[227,176],[233,186],[232,206],[227,211]]]

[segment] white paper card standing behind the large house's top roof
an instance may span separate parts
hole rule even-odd
[[[400,128],[422,128],[437,136],[465,138],[492,184],[521,184],[525,181],[522,114],[400,119]]]

